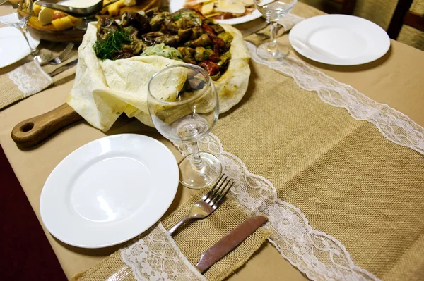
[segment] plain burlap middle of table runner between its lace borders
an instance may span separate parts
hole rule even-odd
[[[423,280],[422,154],[257,63],[247,99],[213,132],[355,264],[383,280]]]

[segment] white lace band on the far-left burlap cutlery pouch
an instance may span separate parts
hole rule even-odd
[[[7,75],[13,81],[13,84],[18,86],[20,92],[23,92],[24,98],[41,92],[53,84],[52,77],[47,75],[41,66],[34,61],[25,63]]]

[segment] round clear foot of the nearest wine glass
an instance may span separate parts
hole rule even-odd
[[[202,189],[210,187],[219,179],[222,167],[218,158],[206,152],[200,152],[200,157],[203,161],[201,168],[192,165],[193,154],[187,155],[179,162],[179,182],[184,187]]]

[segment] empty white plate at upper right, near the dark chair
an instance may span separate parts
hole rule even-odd
[[[299,54],[319,63],[358,65],[381,58],[390,48],[387,33],[370,20],[353,15],[318,15],[290,31]]]

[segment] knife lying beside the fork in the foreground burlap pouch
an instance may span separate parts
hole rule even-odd
[[[207,249],[204,254],[201,254],[199,263],[196,268],[201,273],[204,273],[208,268],[213,266],[217,261],[230,253],[235,247],[242,243],[249,235],[257,230],[261,225],[264,225],[268,218],[265,215],[248,218],[244,223],[231,230],[228,235],[221,238],[216,244]]]

